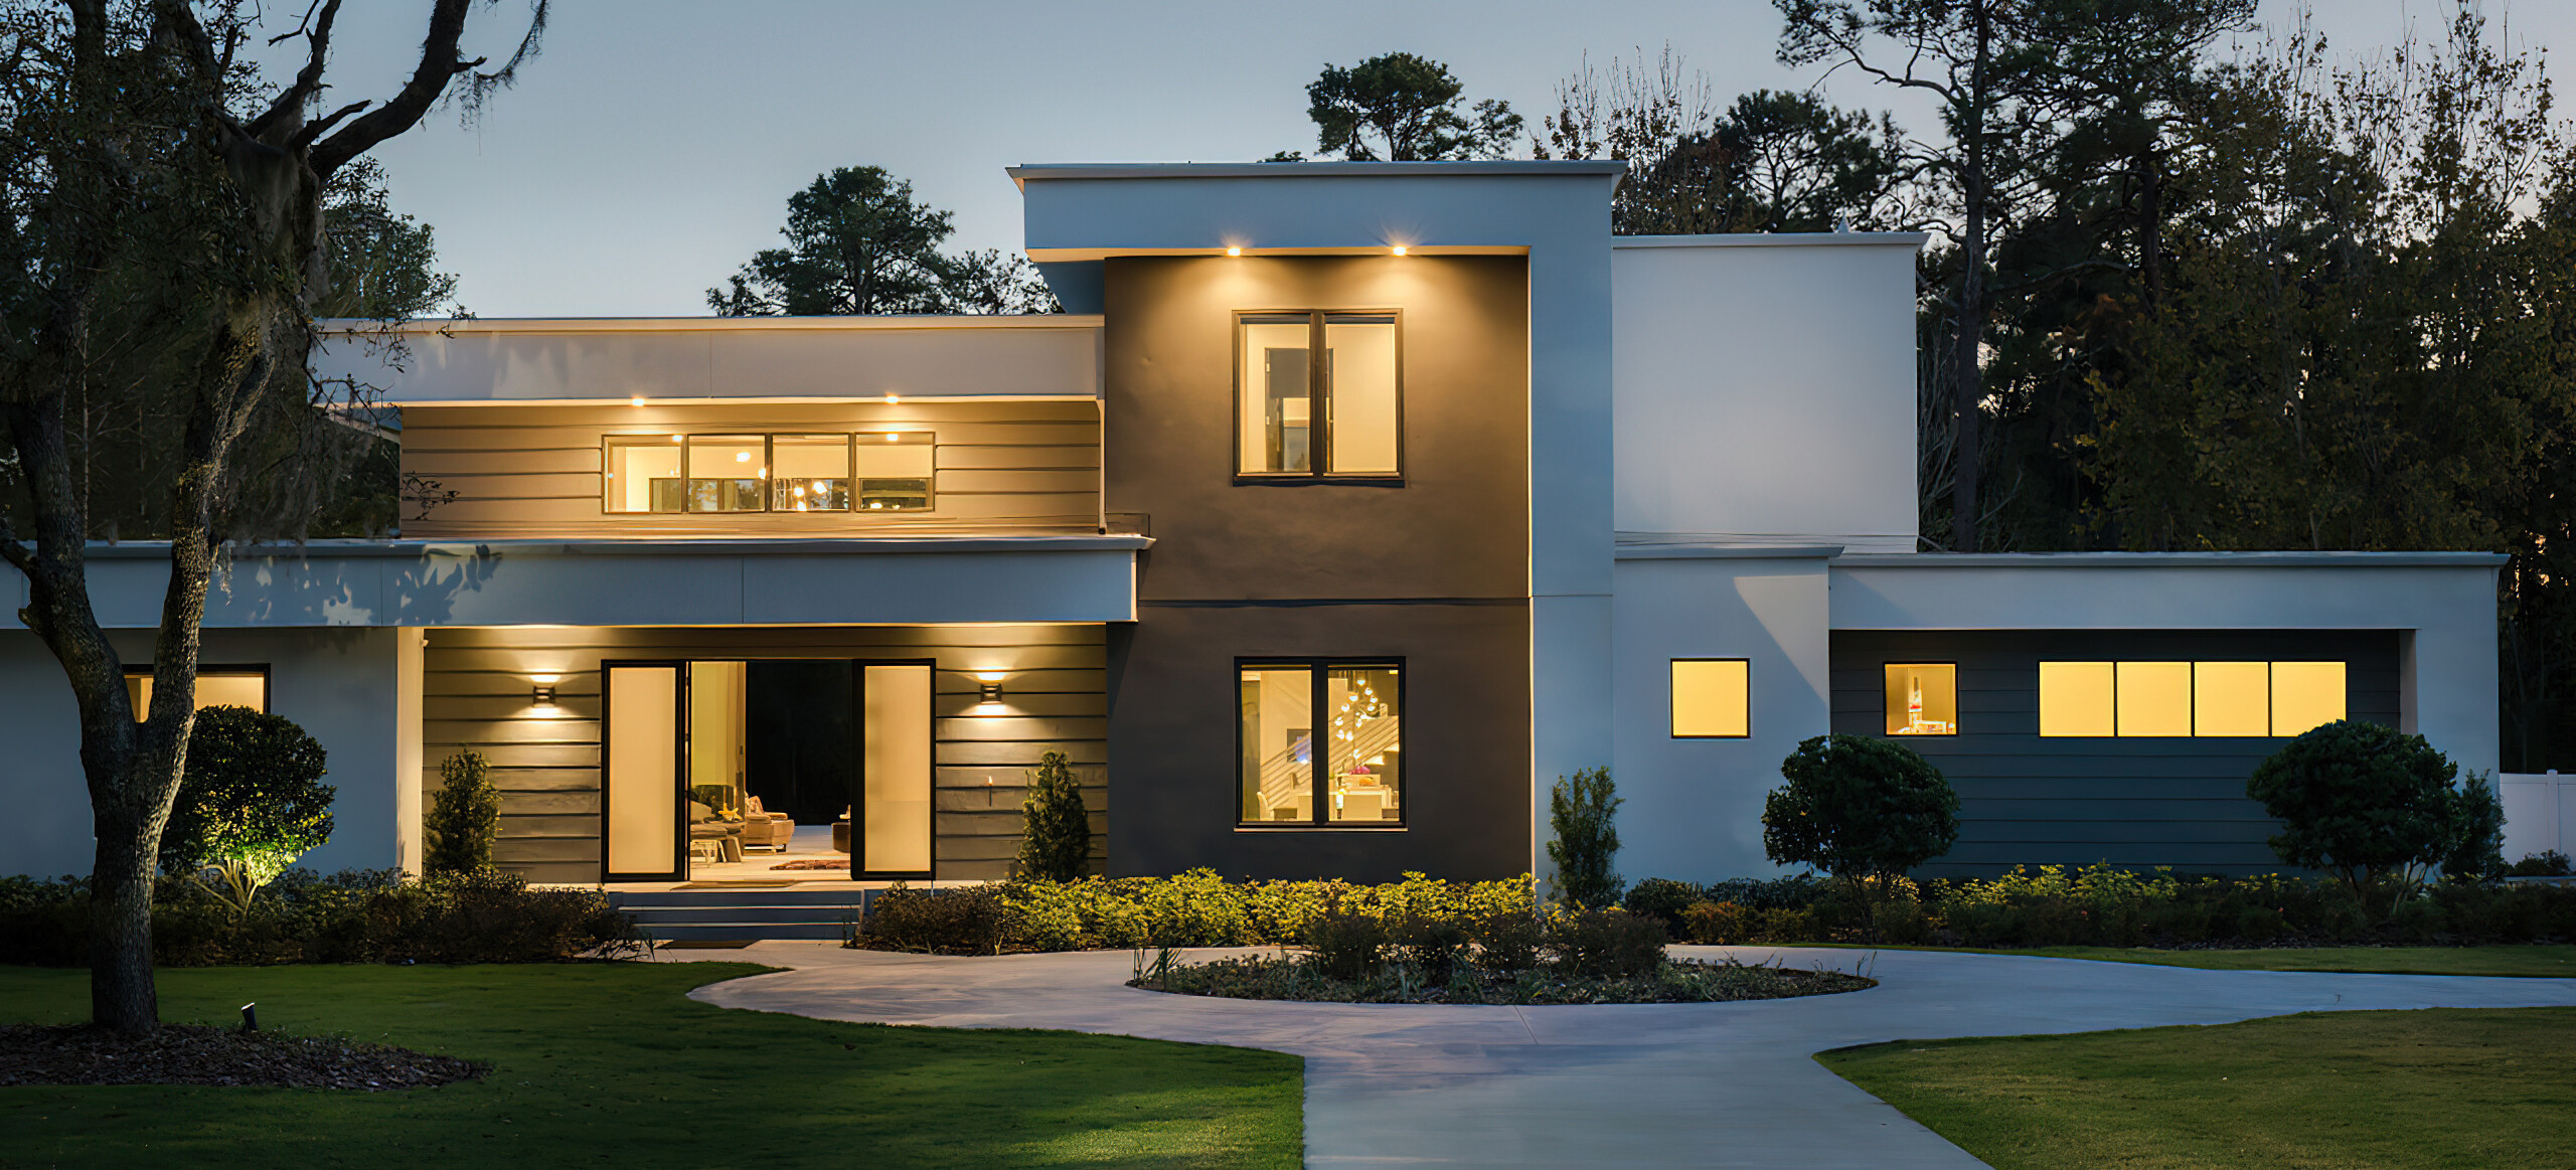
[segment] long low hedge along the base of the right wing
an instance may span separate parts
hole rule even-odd
[[[1932,943],[1932,946],[2326,946],[2326,943],[2561,943],[2576,941],[2576,889],[2445,881],[2411,897],[2378,892],[2378,915],[2342,881],[2138,874],[2115,866],[2038,866],[1996,879],[1893,879],[1865,902],[1814,876],[1692,887],[1641,881],[1628,910],[1690,943]]]

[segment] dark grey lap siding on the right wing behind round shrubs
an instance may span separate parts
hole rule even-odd
[[[2254,765],[2287,740],[2040,737],[2040,660],[2342,660],[2352,719],[2398,722],[2391,631],[1837,631],[1834,729],[1886,732],[1888,662],[1958,662],[1953,737],[1904,737],[1960,796],[1958,845],[1927,876],[2012,866],[2282,868],[2277,830],[2246,799]]]

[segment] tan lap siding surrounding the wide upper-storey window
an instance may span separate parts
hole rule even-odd
[[[930,430],[927,513],[616,515],[605,436]],[[404,407],[402,469],[456,492],[404,536],[886,536],[1100,526],[1095,402]]]

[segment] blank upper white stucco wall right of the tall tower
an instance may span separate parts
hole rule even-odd
[[[1620,533],[1914,551],[1919,235],[1610,250]]]

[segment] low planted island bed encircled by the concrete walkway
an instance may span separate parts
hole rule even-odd
[[[1878,987],[1847,972],[1798,972],[1762,964],[1664,961],[1649,977],[1577,977],[1548,969],[1476,972],[1435,982],[1406,969],[1381,969],[1368,979],[1332,979],[1303,956],[1216,959],[1146,969],[1128,987],[1226,1000],[1306,1002],[1731,1002],[1837,995]]]

